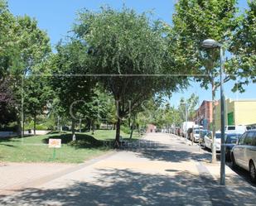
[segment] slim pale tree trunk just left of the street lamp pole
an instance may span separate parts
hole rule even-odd
[[[211,162],[215,163],[217,160],[216,160],[216,147],[215,147],[216,107],[215,107],[215,81],[214,81],[214,79],[211,82],[211,88],[212,88],[212,145],[211,145],[212,157],[211,157]]]

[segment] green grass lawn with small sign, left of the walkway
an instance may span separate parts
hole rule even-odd
[[[128,138],[127,134],[121,134]],[[94,156],[100,156],[111,147],[104,146],[104,141],[114,141],[115,131],[99,130],[94,135],[91,132],[78,133],[77,141],[72,142],[70,133],[48,134],[24,138],[0,139],[0,162],[65,162],[81,163]],[[48,138],[60,138],[61,148],[56,149],[56,159],[52,160],[53,149],[48,148]],[[138,139],[138,132],[134,133]],[[134,140],[133,139],[133,140]]]

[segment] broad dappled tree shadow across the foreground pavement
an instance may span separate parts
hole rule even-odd
[[[254,204],[253,191],[231,194],[189,171],[151,175],[132,170],[98,170],[93,182],[74,181],[60,189],[26,189],[2,197],[1,205],[233,205]],[[229,198],[227,196],[229,193]]]

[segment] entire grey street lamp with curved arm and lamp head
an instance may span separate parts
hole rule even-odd
[[[205,48],[220,48],[220,113],[221,113],[221,148],[220,148],[220,184],[225,185],[225,94],[224,94],[224,79],[223,79],[223,49],[222,45],[211,39],[202,42]]]

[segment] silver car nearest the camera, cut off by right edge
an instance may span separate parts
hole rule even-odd
[[[251,180],[256,182],[256,130],[244,132],[239,138],[238,145],[231,151],[232,166],[236,165],[249,171]]]

